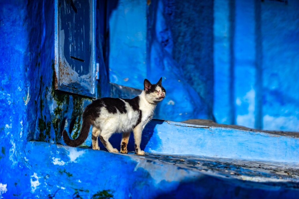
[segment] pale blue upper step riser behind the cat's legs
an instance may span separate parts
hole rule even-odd
[[[110,140],[120,149],[120,134],[114,134]],[[134,150],[132,135],[128,149]],[[299,163],[299,133],[152,120],[142,134],[141,149],[159,154]]]

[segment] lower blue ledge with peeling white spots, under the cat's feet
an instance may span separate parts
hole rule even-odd
[[[46,149],[46,150],[45,150]],[[177,155],[115,154],[30,142],[22,197],[296,198],[299,167]],[[263,167],[263,168],[259,168]],[[272,173],[274,170],[276,173]],[[286,173],[284,172],[286,171]],[[288,174],[288,173],[289,174]],[[290,177],[288,177],[290,176]],[[5,197],[5,195],[4,195]]]

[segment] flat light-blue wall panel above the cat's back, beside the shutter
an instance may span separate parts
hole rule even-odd
[[[112,6],[114,5],[114,6]],[[143,89],[146,72],[145,1],[108,1],[109,78],[112,83]],[[157,80],[158,81],[158,80]]]

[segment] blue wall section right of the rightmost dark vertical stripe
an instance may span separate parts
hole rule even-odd
[[[299,131],[299,2],[261,4],[263,128]]]

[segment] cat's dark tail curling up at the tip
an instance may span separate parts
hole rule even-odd
[[[80,130],[80,134],[75,140],[71,140],[70,137],[68,136],[68,132],[66,132],[66,130],[63,130],[62,137],[63,137],[64,142],[68,146],[73,146],[73,147],[81,145],[88,137],[90,125],[91,125],[91,120],[89,118],[83,117],[82,128]]]

